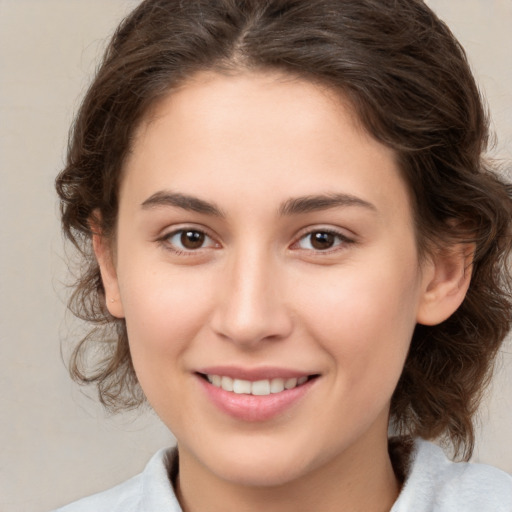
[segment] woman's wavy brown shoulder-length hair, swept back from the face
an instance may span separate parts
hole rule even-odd
[[[511,327],[512,193],[483,159],[488,122],[465,54],[421,0],[146,0],[119,26],[70,137],[57,178],[65,234],[83,256],[72,311],[96,328],[72,375],[110,408],[143,401],[124,320],[109,315],[90,219],[115,232],[123,160],[149,107],[199,70],[276,69],[327,84],[395,150],[415,206],[421,254],[476,244],[458,311],[418,325],[394,393],[403,434],[447,437],[466,457],[472,417]],[[101,356],[90,368],[88,349]]]

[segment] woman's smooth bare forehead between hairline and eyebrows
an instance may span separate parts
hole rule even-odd
[[[123,188],[131,183],[139,201],[169,188],[215,193],[215,202],[258,193],[282,202],[333,187],[399,199],[399,174],[394,152],[361,127],[339,93],[280,73],[201,73],[138,127]]]

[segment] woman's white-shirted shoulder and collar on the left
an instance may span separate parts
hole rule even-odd
[[[175,450],[161,450],[152,457],[139,475],[55,512],[181,512],[169,480],[175,458]]]

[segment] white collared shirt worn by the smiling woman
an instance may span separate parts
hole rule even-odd
[[[491,466],[453,463],[417,440],[409,474],[390,512],[512,512],[512,476]],[[139,475],[55,512],[182,512],[169,472],[173,449],[161,450]],[[321,511],[319,511],[321,512]]]

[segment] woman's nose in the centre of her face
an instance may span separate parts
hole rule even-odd
[[[212,319],[216,334],[244,349],[288,337],[293,322],[279,265],[263,251],[247,251],[228,259],[219,276]]]

